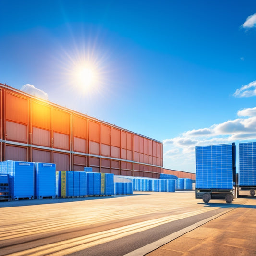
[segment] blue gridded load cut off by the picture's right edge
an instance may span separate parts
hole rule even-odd
[[[239,143],[239,186],[256,186],[256,142]]]

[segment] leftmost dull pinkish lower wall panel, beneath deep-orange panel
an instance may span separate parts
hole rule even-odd
[[[27,143],[27,126],[6,121],[6,139]]]

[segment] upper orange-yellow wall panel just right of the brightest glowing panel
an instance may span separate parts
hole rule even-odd
[[[70,134],[70,114],[53,108],[52,110],[53,131]]]

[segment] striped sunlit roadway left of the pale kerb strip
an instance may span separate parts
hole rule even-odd
[[[195,192],[1,202],[0,255],[121,256],[233,207]]]

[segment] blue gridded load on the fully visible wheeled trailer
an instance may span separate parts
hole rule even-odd
[[[197,146],[196,188],[232,189],[235,176],[235,145]]]

